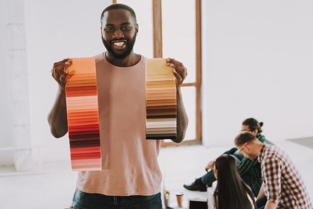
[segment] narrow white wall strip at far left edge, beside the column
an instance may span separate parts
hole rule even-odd
[[[7,2],[0,1],[0,147],[13,146],[7,48]],[[13,151],[0,151],[0,164],[12,164]]]

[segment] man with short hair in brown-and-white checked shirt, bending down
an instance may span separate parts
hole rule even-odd
[[[265,209],[312,209],[301,174],[288,155],[276,146],[261,143],[249,131],[242,131],[234,140],[244,156],[261,164]]]

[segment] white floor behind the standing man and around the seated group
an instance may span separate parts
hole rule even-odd
[[[287,151],[295,162],[313,200],[312,149],[292,141],[279,141],[276,145]],[[162,186],[169,191],[169,206],[177,205],[176,192],[183,192],[184,207],[187,207],[188,198],[205,199],[213,188],[207,192],[195,192],[182,185],[204,174],[206,163],[227,148],[202,145],[162,148],[158,159],[163,173]],[[3,169],[0,172],[4,172]],[[0,209],[65,208],[71,203],[76,175],[70,171],[69,161],[61,161],[46,164],[41,173],[0,177]]]

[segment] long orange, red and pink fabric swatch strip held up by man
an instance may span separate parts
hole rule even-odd
[[[71,168],[101,170],[95,60],[71,59],[65,85]]]

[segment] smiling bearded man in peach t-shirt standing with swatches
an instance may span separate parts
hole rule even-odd
[[[106,51],[95,55],[102,171],[80,171],[74,208],[162,208],[161,172],[157,162],[160,140],[145,139],[145,58],[133,51],[138,24],[134,11],[112,4],[101,14]],[[70,59],[55,62],[52,76],[58,93],[48,115],[51,133],[66,134],[65,83]],[[188,118],[180,86],[186,68],[168,58],[176,77],[177,137],[184,138]],[[65,68],[65,69],[64,69]]]

